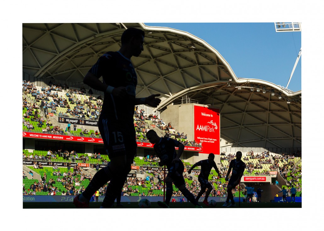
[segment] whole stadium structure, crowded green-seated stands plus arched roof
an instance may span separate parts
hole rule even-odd
[[[96,126],[102,92],[88,89],[82,80],[98,57],[119,49],[126,27],[145,31],[144,51],[132,59],[138,76],[136,97],[159,93],[162,102],[157,108],[134,109],[138,155],[123,189],[125,197],[163,195],[163,169],[146,140],[148,129],[185,144],[181,160],[186,168],[207,159],[205,144],[186,125],[194,111],[180,115],[184,114],[180,107],[188,105],[217,109],[220,114],[215,161],[222,175],[212,172],[209,177],[214,187],[211,198],[226,197],[224,177],[237,151],[247,165],[241,198],[251,182],[255,190],[260,185],[266,189],[265,201],[275,200],[275,192],[283,186],[289,193],[292,184],[296,196],[301,196],[301,91],[237,78],[208,41],[184,31],[142,23],[67,23],[23,24],[24,198],[76,195],[109,162]],[[195,195],[200,190],[199,171],[196,167],[190,175],[184,173],[186,186]],[[238,187],[233,191],[237,198]],[[174,188],[173,196],[183,195]]]

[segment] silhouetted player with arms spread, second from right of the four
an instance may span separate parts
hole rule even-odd
[[[188,173],[190,174],[192,169],[194,169],[196,166],[201,166],[201,171],[198,175],[198,181],[200,183],[200,192],[198,193],[197,197],[196,197],[196,201],[199,201],[199,198],[204,194],[204,192],[207,189],[207,192],[205,194],[205,199],[203,200],[203,203],[207,206],[209,206],[208,204],[208,197],[209,194],[212,192],[213,190],[213,186],[208,182],[208,177],[209,177],[209,173],[212,170],[212,168],[214,167],[214,169],[216,170],[216,173],[218,174],[218,176],[220,176],[221,174],[218,171],[218,168],[216,166],[216,163],[214,162],[214,158],[215,155],[214,153],[210,153],[208,155],[208,159],[207,160],[201,160],[197,163],[195,163],[194,165],[191,166],[191,168],[188,170]]]

